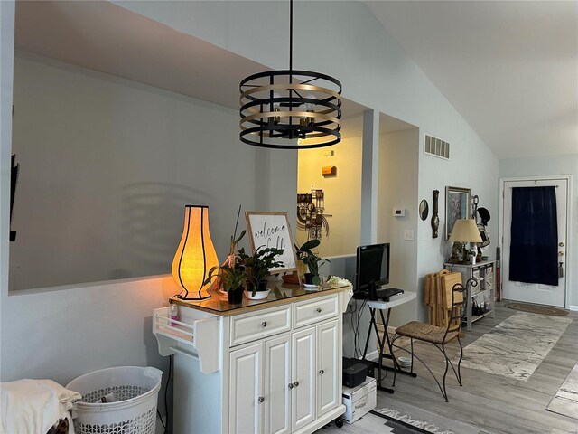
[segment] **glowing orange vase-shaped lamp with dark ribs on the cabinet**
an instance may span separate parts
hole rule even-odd
[[[209,270],[218,265],[217,252],[210,239],[209,207],[186,205],[181,242],[172,259],[172,278],[184,291],[179,298],[209,298],[207,289],[211,284],[203,285],[203,282]]]

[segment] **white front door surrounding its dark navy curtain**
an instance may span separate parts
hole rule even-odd
[[[558,262],[561,262],[563,277],[558,278],[558,285],[542,283],[525,283],[509,279],[511,223],[512,223],[512,188],[514,187],[555,186],[556,213],[558,224]],[[567,179],[536,179],[524,181],[504,181],[503,190],[503,241],[501,271],[503,297],[509,300],[523,301],[555,307],[564,307],[566,294],[566,243],[567,243]]]

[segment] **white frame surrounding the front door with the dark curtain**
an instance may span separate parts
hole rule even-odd
[[[566,290],[564,295],[564,307],[566,309],[570,308],[570,288],[573,285],[572,277],[572,267],[569,264],[572,263],[572,253],[573,253],[573,234],[572,234],[572,175],[551,175],[551,176],[518,176],[512,178],[499,178],[499,227],[498,227],[498,245],[499,251],[504,251],[504,184],[508,181],[566,181],[568,188],[566,189],[566,267],[564,269],[564,276],[566,278]],[[502,260],[500,259],[500,267]],[[500,277],[504,275],[500,271]],[[502,284],[500,279],[500,285]],[[503,292],[500,288],[500,296],[503,297]]]

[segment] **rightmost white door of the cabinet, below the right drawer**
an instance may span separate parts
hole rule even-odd
[[[317,417],[340,404],[339,322],[317,327]]]

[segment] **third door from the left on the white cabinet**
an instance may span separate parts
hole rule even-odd
[[[315,327],[292,336],[292,430],[315,420]]]

